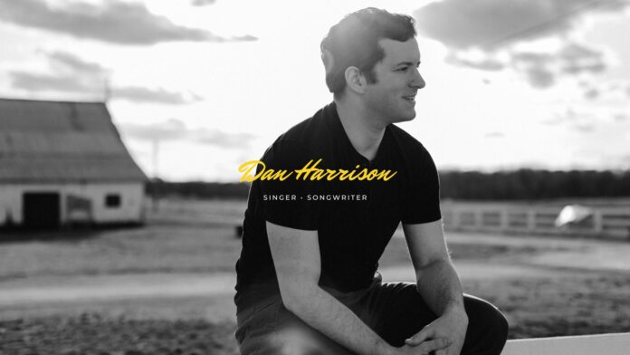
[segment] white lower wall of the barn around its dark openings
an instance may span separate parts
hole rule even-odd
[[[5,225],[7,211],[15,224],[24,220],[23,195],[25,192],[55,192],[60,194],[61,223],[69,222],[66,197],[80,196],[91,200],[91,218],[95,223],[141,222],[144,219],[144,184],[12,184],[0,185],[0,225]],[[109,194],[120,196],[120,206],[105,206]]]

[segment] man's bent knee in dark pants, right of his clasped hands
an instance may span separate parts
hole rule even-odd
[[[505,316],[491,303],[470,295],[464,297],[464,307],[469,321],[462,353],[500,354],[508,339]]]

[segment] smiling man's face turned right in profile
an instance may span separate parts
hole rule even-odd
[[[386,123],[415,118],[415,94],[425,87],[418,72],[420,51],[415,38],[406,42],[378,41],[385,58],[374,66],[375,83],[368,83],[364,95],[367,109]]]

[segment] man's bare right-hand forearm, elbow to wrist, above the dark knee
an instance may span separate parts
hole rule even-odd
[[[450,261],[426,264],[416,274],[416,280],[418,293],[438,316],[450,310],[463,311],[462,283]]]

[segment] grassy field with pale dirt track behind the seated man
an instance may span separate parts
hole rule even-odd
[[[147,225],[1,235],[0,354],[236,354],[242,201],[162,201]],[[630,243],[447,235],[465,293],[514,338],[630,331]],[[381,260],[411,281],[400,232]]]

